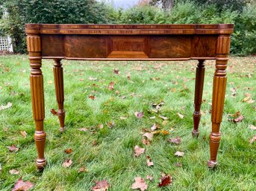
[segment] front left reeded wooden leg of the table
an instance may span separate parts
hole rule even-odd
[[[43,74],[41,71],[41,42],[40,36],[28,35],[28,56],[31,66],[31,101],[33,108],[33,117],[36,124],[34,140],[37,146],[38,158],[36,160],[37,168],[43,169],[46,165],[44,151],[46,146],[46,132],[43,131],[43,120],[45,118],[45,106],[43,95]]]

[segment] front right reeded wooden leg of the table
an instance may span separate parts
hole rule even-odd
[[[225,101],[225,88],[227,74],[225,69],[228,63],[228,53],[230,47],[230,37],[221,35],[218,37],[216,50],[216,71],[213,77],[213,100],[211,110],[212,132],[210,133],[210,161],[208,166],[216,166],[217,152],[219,149],[221,133],[219,127],[222,122],[222,113]]]

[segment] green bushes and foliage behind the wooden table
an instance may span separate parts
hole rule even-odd
[[[157,3],[157,1],[159,1]],[[172,10],[159,3],[167,0],[141,0],[127,10],[96,0],[0,0],[0,35],[14,39],[14,51],[25,53],[25,23],[113,23],[113,24],[191,24],[234,23],[231,53],[256,54],[256,6],[249,0],[175,0]]]

